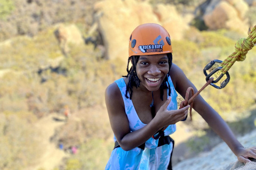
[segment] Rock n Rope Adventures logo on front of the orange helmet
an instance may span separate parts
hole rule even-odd
[[[149,44],[149,45],[141,45],[139,46],[139,50],[142,53],[161,53],[163,52],[163,46],[164,46],[164,41],[163,39],[161,40],[161,36],[159,35],[154,41],[154,44]],[[158,41],[161,40],[158,44]]]

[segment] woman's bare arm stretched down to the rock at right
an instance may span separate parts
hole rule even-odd
[[[186,75],[177,65],[174,64],[172,66],[170,73],[171,78],[174,79],[174,86],[183,98],[185,98],[188,87],[193,87],[195,92],[197,92],[194,84],[187,79]],[[241,153],[245,152],[244,147],[236,139],[234,133],[230,130],[227,123],[209,104],[206,103],[206,101],[200,95],[195,98],[193,108],[204,118],[204,120],[209,124],[213,131],[215,131],[227,143],[229,148],[238,157],[238,160],[240,159],[241,162],[247,162],[247,160],[249,160],[240,157]]]

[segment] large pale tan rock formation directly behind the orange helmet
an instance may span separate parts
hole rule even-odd
[[[128,57],[131,32],[143,23],[158,23],[169,31],[172,39],[182,39],[189,28],[188,20],[183,20],[174,6],[158,4],[156,7],[147,1],[105,0],[94,5],[99,31],[107,50],[107,58]]]

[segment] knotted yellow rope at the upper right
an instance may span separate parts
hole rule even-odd
[[[256,25],[254,25],[252,31],[247,38],[239,39],[235,44],[235,52],[229,55],[222,63],[222,69],[220,72],[226,74],[230,67],[236,62],[244,61],[247,52],[254,47],[256,43]]]

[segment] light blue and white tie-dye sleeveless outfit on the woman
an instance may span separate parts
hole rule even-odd
[[[146,124],[142,123],[138,114],[135,111],[132,100],[125,97],[126,84],[123,78],[115,81],[119,87],[125,105],[125,113],[129,120],[129,126],[131,132],[143,128]],[[170,89],[167,89],[167,97],[171,97],[172,100],[167,106],[168,110],[175,110],[178,108],[177,105],[177,92],[174,89],[171,77],[168,78],[170,84]],[[169,96],[169,90],[171,90],[171,96]],[[129,94],[127,94],[129,96]],[[129,96],[130,97],[130,96]],[[170,135],[176,131],[176,125],[169,125],[167,129],[164,130],[164,135]],[[116,141],[116,138],[114,137]],[[138,147],[125,151],[121,147],[115,148],[110,155],[108,163],[106,165],[106,170],[162,170],[167,169],[170,162],[170,156],[172,152],[173,144],[158,146],[158,139],[155,140],[150,138],[145,142],[145,150]]]

